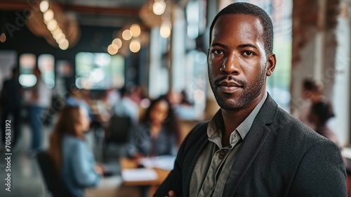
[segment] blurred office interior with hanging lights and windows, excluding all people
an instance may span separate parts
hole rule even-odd
[[[121,89],[135,93],[130,96],[138,104],[139,117],[161,95],[173,93],[186,100],[178,113],[183,140],[197,122],[208,120],[219,108],[207,77],[208,30],[216,13],[234,1],[1,0],[0,90],[17,67],[22,108],[20,138],[11,149],[12,191],[5,191],[1,152],[0,196],[50,196],[35,156],[28,155],[28,97],[38,81],[36,67],[52,92],[51,105],[41,117],[42,148],[48,148],[67,95],[79,91],[91,109],[86,141],[95,159],[112,173],[86,196],[143,196],[143,189],[126,186],[121,177],[123,145],[106,146]],[[313,77],[322,82],[335,114],[329,127],[343,155],[351,155],[351,1],[245,2],[265,9],[274,24],[277,67],[268,78],[269,94],[293,113],[303,108],[303,80]]]

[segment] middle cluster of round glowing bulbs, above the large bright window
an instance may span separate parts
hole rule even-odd
[[[133,53],[137,53],[141,48],[140,39],[138,39],[138,37],[140,37],[140,34],[141,30],[138,24],[131,25],[129,29],[124,30],[121,34],[122,39],[124,39],[125,41],[131,40],[131,42],[129,43],[129,50],[131,50]],[[123,42],[121,39],[113,39],[112,43],[107,47],[107,52],[111,55],[116,54],[119,51],[119,49],[121,49],[122,44]]]

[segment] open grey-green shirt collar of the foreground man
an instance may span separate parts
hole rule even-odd
[[[244,139],[246,134],[249,133],[249,130],[253,124],[253,120],[258,115],[260,108],[262,108],[263,103],[267,98],[267,91],[265,92],[265,96],[260,100],[255,108],[251,111],[248,117],[241,122],[241,124],[235,129],[232,134],[230,134],[230,145],[234,146],[237,143],[236,137],[234,137],[235,133],[239,133],[241,139]],[[209,141],[213,141],[218,147],[222,148],[222,131],[223,130],[223,117],[221,110],[219,109],[217,113],[212,117],[207,127],[207,136]]]

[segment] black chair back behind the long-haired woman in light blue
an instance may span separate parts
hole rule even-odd
[[[41,151],[37,154],[37,161],[39,163],[41,174],[44,177],[46,188],[51,192],[53,197],[74,197],[74,195],[72,195],[62,183],[62,180],[56,173],[51,158],[49,158],[46,151]]]

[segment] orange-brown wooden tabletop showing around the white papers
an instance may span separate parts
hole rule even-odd
[[[134,169],[138,167],[138,163],[136,160],[132,160],[130,158],[121,158],[119,160],[121,165],[121,170],[124,169]],[[157,187],[164,182],[164,179],[169,174],[169,170],[161,170],[158,168],[153,168],[153,170],[157,173],[157,179],[154,180],[146,180],[146,181],[135,181],[135,182],[127,182],[124,181],[123,184],[126,186],[150,186],[150,192],[148,196],[153,196],[154,192],[157,190]]]

